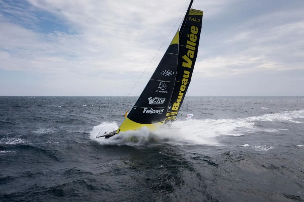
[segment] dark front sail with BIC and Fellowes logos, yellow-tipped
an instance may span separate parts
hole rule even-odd
[[[164,123],[177,75],[178,41],[179,30],[117,133],[143,126],[156,128]]]

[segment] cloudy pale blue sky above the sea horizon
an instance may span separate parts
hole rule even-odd
[[[0,0],[0,96],[139,96],[188,3]],[[204,15],[188,96],[304,96],[303,0],[192,7]]]

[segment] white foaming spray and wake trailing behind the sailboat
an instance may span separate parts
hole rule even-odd
[[[118,128],[116,122],[102,123],[94,126],[90,132],[90,138],[103,145],[222,145],[216,137],[224,135],[241,136],[258,131],[278,132],[287,130],[284,128],[263,128],[256,125],[257,121],[284,121],[293,124],[303,123],[304,110],[283,111],[274,114],[264,114],[261,116],[250,116],[242,119],[206,119],[175,121],[170,127],[163,127],[149,131],[143,127],[136,131],[120,132],[109,139],[96,138],[100,134]]]

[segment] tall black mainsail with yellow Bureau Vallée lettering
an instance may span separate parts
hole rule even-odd
[[[181,25],[177,75],[166,120],[174,120],[178,114],[190,84],[197,57],[203,11],[190,8],[191,3],[187,12],[188,15],[186,14],[184,22]]]

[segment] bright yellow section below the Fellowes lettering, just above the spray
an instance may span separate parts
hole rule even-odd
[[[152,124],[141,124],[141,123],[136,123],[136,122],[130,120],[128,117],[126,117],[125,120],[123,121],[123,123],[117,129],[117,133],[127,131],[127,130],[138,130],[142,127],[147,127],[150,130],[155,130],[159,126],[163,125],[164,123],[165,123],[164,121],[161,121],[161,122],[152,123]]]

